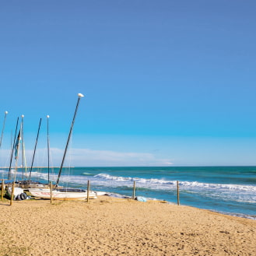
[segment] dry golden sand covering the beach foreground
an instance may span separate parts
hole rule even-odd
[[[0,255],[256,255],[256,221],[163,202],[0,202]]]

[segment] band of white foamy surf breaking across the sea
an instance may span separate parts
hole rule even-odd
[[[22,174],[19,172],[19,174]],[[57,181],[56,174],[50,174],[51,181]],[[33,171],[31,178],[39,178],[47,181],[48,174]],[[133,181],[136,181],[136,188],[145,188],[153,191],[177,190],[177,181],[168,181],[165,179],[147,179],[140,177],[122,177],[112,176],[110,174],[88,175],[61,175],[61,183],[79,184],[82,187],[87,186],[87,181],[95,186],[103,186],[107,188],[133,187]],[[198,181],[179,181],[180,191],[190,194],[203,195],[208,198],[221,199],[226,202],[236,201],[243,203],[256,203],[256,186],[240,185],[240,184],[209,184]]]

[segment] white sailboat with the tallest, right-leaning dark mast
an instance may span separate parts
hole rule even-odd
[[[75,114],[74,114],[72,124],[71,124],[71,127],[70,127],[69,135],[68,135],[68,141],[67,141],[66,146],[65,146],[65,152],[64,152],[62,162],[61,162],[61,167],[60,167],[60,170],[59,170],[59,173],[58,173],[58,179],[57,179],[57,182],[54,186],[55,188],[52,190],[52,194],[51,194],[50,188],[29,188],[30,194],[33,195],[34,197],[48,198],[49,199],[49,198],[51,198],[51,195],[52,195],[53,199],[62,199],[62,200],[73,200],[73,199],[83,200],[83,199],[86,199],[88,196],[89,196],[89,198],[97,198],[96,192],[94,192],[94,191],[89,191],[89,194],[87,195],[87,191],[83,190],[83,189],[58,188],[58,182],[60,180],[61,171],[62,171],[62,168],[63,168],[63,164],[65,162],[65,156],[66,156],[67,149],[68,149],[68,143],[69,143],[69,140],[71,138],[73,126],[74,126],[74,123],[75,123],[76,112],[77,112],[78,107],[79,107],[79,101],[82,97],[83,97],[82,93],[79,93],[78,94],[78,100],[77,100],[76,107],[75,107]],[[48,149],[49,149],[49,147],[48,147]]]

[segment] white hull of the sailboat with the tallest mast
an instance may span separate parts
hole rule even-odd
[[[48,188],[30,188],[30,194],[37,198],[51,198],[51,191]],[[52,198],[59,200],[84,200],[87,198],[87,191],[52,191]],[[97,198],[96,193],[89,191],[89,198]]]

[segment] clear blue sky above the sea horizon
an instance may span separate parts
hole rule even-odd
[[[77,93],[74,166],[256,165],[255,9],[237,0],[2,1],[1,129],[9,114],[0,165],[22,114],[28,164],[43,119],[36,164],[45,163],[49,114],[58,166]]]

